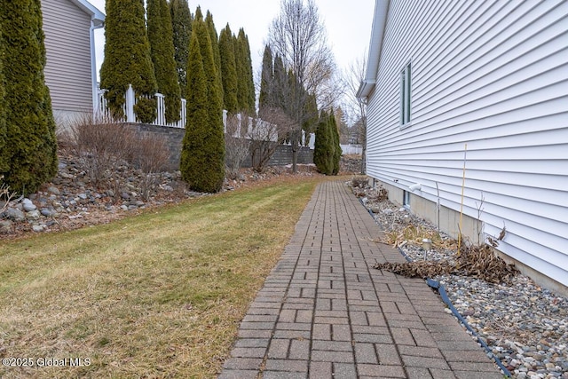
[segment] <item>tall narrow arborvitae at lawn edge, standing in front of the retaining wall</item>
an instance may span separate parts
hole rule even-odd
[[[225,178],[222,92],[218,84],[207,25],[202,18],[198,19],[198,12],[195,14],[187,67],[187,104],[190,105],[190,110],[200,107],[201,111],[192,110],[190,113],[188,110],[187,113],[185,139],[188,141],[185,146],[188,147],[184,148],[185,158],[182,170],[185,170],[184,178],[193,190],[213,193],[221,189]],[[199,54],[195,52],[197,48],[199,48]],[[203,92],[201,91],[201,79],[197,81],[193,78],[201,70],[199,64],[196,63],[197,59],[200,59],[205,81],[204,97],[201,95]],[[193,70],[198,73],[194,74]],[[196,99],[197,97],[199,99]],[[204,99],[201,100],[201,97]],[[193,102],[195,104],[191,104]]]

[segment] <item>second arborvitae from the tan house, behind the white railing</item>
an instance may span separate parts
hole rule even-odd
[[[165,96],[166,122],[177,122],[180,117],[181,91],[177,83],[170,8],[166,0],[147,0],[147,7],[148,40],[158,92]]]

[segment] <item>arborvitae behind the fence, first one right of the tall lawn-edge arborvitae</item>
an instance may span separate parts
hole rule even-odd
[[[234,60],[233,33],[229,24],[221,30],[219,36],[219,51],[221,53],[221,79],[223,80],[223,103],[227,112],[238,112],[237,101],[237,67]]]

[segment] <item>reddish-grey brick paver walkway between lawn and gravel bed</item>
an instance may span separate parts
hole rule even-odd
[[[318,186],[242,320],[219,378],[501,379],[343,182]]]

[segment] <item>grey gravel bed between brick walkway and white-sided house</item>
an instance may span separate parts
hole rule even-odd
[[[351,185],[351,182],[349,182]],[[409,225],[436,237],[432,248],[422,249],[422,238],[398,241],[412,260],[452,260],[456,243],[434,225],[415,217],[368,186],[353,188],[386,233],[401,236]],[[439,238],[438,238],[439,236]],[[489,346],[515,378],[568,379],[568,298],[541,288],[517,274],[509,284],[438,275],[454,307]],[[447,309],[447,312],[451,312]],[[488,353],[491,355],[491,353]]]

